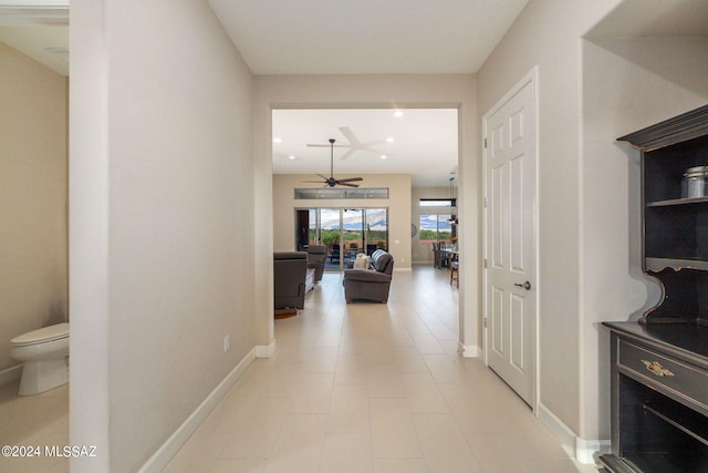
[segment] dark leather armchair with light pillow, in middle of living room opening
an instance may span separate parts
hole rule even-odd
[[[346,269],[343,280],[346,302],[364,299],[386,304],[393,271],[394,257],[383,249],[372,254],[369,268]]]

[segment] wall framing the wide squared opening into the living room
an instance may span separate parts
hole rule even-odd
[[[475,75],[278,75],[254,79],[254,158],[259,198],[257,199],[257,234],[261,248],[257,250],[257,268],[270,274],[257,275],[257,287],[270,288],[272,265],[267,241],[272,240],[270,217],[273,212],[272,189],[272,124],[273,109],[375,109],[433,107],[458,109],[460,130],[459,200],[460,200],[460,342],[476,352],[479,318],[479,194],[477,152],[479,143]],[[406,210],[408,215],[409,210]],[[263,285],[263,286],[261,286]],[[272,295],[258,289],[257,310],[268,313]],[[267,302],[260,302],[266,300]],[[272,328],[261,333],[261,340],[272,339]],[[263,342],[261,342],[264,345]]]

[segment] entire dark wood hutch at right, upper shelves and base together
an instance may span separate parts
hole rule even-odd
[[[612,336],[607,470],[708,472],[708,196],[688,168],[708,165],[708,105],[622,136],[642,153],[643,269],[662,298]]]

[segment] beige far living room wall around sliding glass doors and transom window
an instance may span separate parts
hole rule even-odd
[[[388,187],[388,199],[295,200],[293,188],[317,187],[302,183],[311,175],[273,175],[273,249],[292,251],[295,246],[295,208],[388,208],[388,251],[395,258],[396,270],[410,269],[410,176],[407,174],[357,174],[364,177],[362,187]],[[340,178],[353,177],[337,175]]]

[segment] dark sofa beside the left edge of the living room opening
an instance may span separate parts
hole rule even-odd
[[[305,275],[308,254],[305,251],[273,253],[273,296],[275,311],[282,309],[304,309]]]

